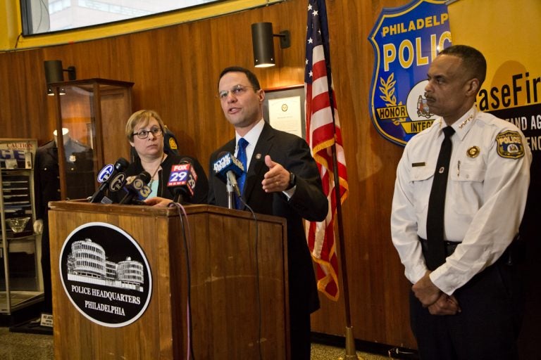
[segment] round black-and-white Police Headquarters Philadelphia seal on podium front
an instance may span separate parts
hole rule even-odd
[[[66,295],[94,323],[127,326],[149,305],[152,278],[147,257],[116,226],[90,222],[77,227],[64,241],[59,263]]]

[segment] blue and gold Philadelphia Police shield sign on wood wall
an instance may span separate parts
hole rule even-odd
[[[430,63],[451,45],[445,1],[384,8],[368,40],[375,53],[368,106],[372,122],[383,137],[404,146],[435,120],[424,89]]]

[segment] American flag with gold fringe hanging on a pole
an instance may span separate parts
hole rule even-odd
[[[331,300],[338,300],[338,259],[335,244],[335,168],[332,146],[335,145],[338,175],[340,177],[340,203],[347,198],[347,171],[342,148],[342,134],[336,108],[335,91],[330,74],[329,30],[325,0],[309,0],[306,30],[306,141],[318,163],[323,191],[329,201],[325,221],[307,222],[306,237],[312,259],[318,264],[318,290]]]

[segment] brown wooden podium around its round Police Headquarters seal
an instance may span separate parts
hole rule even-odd
[[[290,359],[285,219],[257,214],[254,221],[249,212],[185,207],[188,268],[176,208],[77,201],[49,207],[55,359],[187,359],[189,339],[194,359]],[[148,260],[150,300],[126,326],[84,316],[63,286],[63,244],[90,223],[122,229]]]

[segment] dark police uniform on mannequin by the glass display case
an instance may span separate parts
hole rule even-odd
[[[58,137],[37,148],[35,157],[34,188],[36,221],[35,233],[42,233],[42,272],[44,283],[43,312],[52,312],[51,261],[49,258],[49,226],[47,205],[49,201],[61,200],[60,171],[58,167]],[[64,151],[66,153],[66,184],[68,198],[85,198],[94,192],[94,173],[92,171],[92,149],[71,139],[69,130],[62,129]]]

